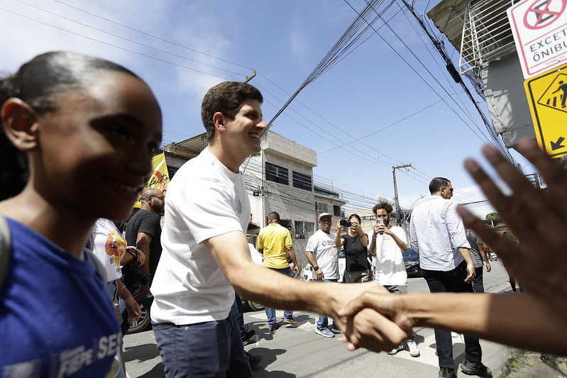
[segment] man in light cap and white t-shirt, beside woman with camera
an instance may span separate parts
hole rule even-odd
[[[319,215],[319,230],[311,235],[305,248],[307,261],[313,267],[313,282],[337,282],[338,280],[338,250],[335,244],[335,233],[331,233],[332,216],[329,213]],[[315,333],[324,338],[334,338],[335,333],[341,330],[333,324],[329,326],[329,319],[319,315]]]

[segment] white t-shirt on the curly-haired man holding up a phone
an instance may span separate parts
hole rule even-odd
[[[392,226],[392,233],[400,240],[406,240],[406,233],[400,226]],[[368,240],[372,243],[374,230],[368,233]],[[407,272],[404,265],[402,250],[397,246],[392,236],[383,233],[376,235],[376,255],[373,260],[375,265],[374,280],[384,285],[407,285]]]

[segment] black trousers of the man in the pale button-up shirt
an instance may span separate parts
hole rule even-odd
[[[437,270],[422,269],[422,274],[427,282],[431,293],[472,293],[473,285],[467,284],[466,262],[461,262],[455,269],[448,272]],[[480,349],[478,338],[465,338],[465,357],[470,362],[480,362],[483,357],[483,350]],[[453,340],[451,332],[446,330],[435,330],[435,343],[437,356],[439,357],[439,367],[455,368],[453,361]]]

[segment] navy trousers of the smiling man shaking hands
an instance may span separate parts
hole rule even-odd
[[[232,311],[222,321],[152,326],[165,377],[253,377]]]

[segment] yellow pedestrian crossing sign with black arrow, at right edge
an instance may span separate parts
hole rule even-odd
[[[524,82],[539,148],[551,157],[567,154],[567,65]]]

